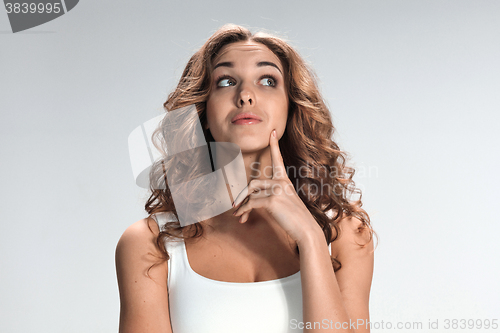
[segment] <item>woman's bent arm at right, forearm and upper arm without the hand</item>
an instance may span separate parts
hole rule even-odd
[[[342,268],[334,273],[328,246],[318,228],[299,245],[304,332],[370,332],[368,300],[373,276],[373,240],[359,232],[361,221],[344,218],[332,257]],[[307,323],[310,326],[307,326]],[[317,322],[314,327],[314,322]],[[337,326],[335,324],[337,323]]]

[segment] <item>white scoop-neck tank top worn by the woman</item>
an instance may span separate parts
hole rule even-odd
[[[165,213],[155,219],[160,229],[176,221]],[[167,286],[173,333],[303,331],[297,328],[302,322],[300,271],[269,281],[217,281],[191,268],[184,240],[170,239],[165,247],[170,255]]]

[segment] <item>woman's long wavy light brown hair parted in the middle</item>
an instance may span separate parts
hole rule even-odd
[[[288,177],[323,230],[326,243],[329,245],[338,239],[338,223],[341,219],[352,216],[362,222],[360,229],[369,231],[369,241],[359,244],[366,246],[375,232],[370,225],[368,214],[361,208],[361,191],[353,181],[355,170],[346,165],[347,153],[341,151],[333,141],[335,128],[319,92],[315,73],[283,38],[264,32],[252,34],[248,29],[234,24],[222,26],[189,59],[177,88],[163,104],[164,108],[171,111],[194,104],[205,140],[215,141],[210,130],[206,128],[206,101],[211,91],[213,60],[224,46],[240,41],[261,43],[281,60],[289,110],[286,129],[279,146]],[[160,151],[165,151],[164,132],[165,128],[160,124],[153,133],[153,142]],[[168,163],[165,160],[153,164],[149,175],[151,196],[145,205],[149,217],[165,212],[173,213],[177,218],[177,221],[167,222],[160,228],[156,243],[163,255],[162,260],[170,258],[165,248],[167,239],[188,239],[203,235],[203,226],[200,223],[182,227],[178,222],[179,217],[165,177],[166,165]],[[300,174],[290,170],[300,170]],[[165,185],[161,188],[159,184]],[[315,190],[312,191],[312,188]],[[351,200],[353,194],[358,194],[359,198]],[[186,230],[187,235],[183,235],[184,228],[189,228]],[[298,252],[298,247],[295,250]],[[332,265],[335,271],[341,268],[341,263],[335,258],[332,258]]]

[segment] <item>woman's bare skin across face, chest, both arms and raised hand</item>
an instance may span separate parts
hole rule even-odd
[[[205,228],[202,238],[186,242],[191,267],[200,275],[228,282],[271,280],[300,269],[303,322],[326,320],[341,326],[338,330],[305,326],[304,332],[369,332],[366,326],[353,327],[349,322],[369,321],[373,242],[368,242],[367,232],[359,231],[361,221],[342,219],[340,237],[332,243],[332,256],[342,262],[342,269],[334,273],[324,234],[284,172],[278,141],[285,130],[288,99],[279,59],[264,45],[238,42],[226,46],[214,64],[228,61],[232,68],[214,71],[214,79],[220,74],[232,79],[212,82],[208,127],[216,141],[241,147],[250,195],[235,198],[236,207],[230,211],[200,222],[210,228]],[[278,69],[256,66],[260,61],[272,62]],[[273,87],[268,85],[271,81],[261,79],[271,72],[277,78]],[[242,110],[258,114],[263,122],[232,125],[232,117]],[[272,172],[252,172],[253,162],[259,162],[262,171]],[[167,262],[152,268],[151,278],[145,275],[155,262],[154,255],[160,255],[154,246],[157,235],[156,223],[143,219],[130,226],[118,242],[120,332],[172,332]],[[291,250],[295,245],[300,255]]]

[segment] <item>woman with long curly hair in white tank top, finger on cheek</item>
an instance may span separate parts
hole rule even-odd
[[[207,141],[241,148],[250,194],[180,226],[168,186],[152,187],[117,245],[120,332],[369,332],[373,230],[305,62],[225,25],[164,106],[191,104]]]

